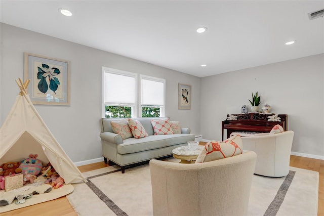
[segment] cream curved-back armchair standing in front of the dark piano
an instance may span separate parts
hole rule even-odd
[[[293,131],[242,137],[243,150],[257,153],[254,173],[268,177],[287,176],[293,138]]]

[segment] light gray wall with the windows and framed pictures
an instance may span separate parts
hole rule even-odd
[[[102,66],[165,78],[166,116],[200,135],[200,78],[4,23],[1,23],[1,125],[19,93],[15,79],[24,76],[24,52],[71,61],[70,106],[35,107],[73,162],[101,157]],[[178,82],[192,85],[191,110],[178,110]]]

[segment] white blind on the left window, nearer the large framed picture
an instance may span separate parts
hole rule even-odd
[[[105,72],[105,103],[135,104],[135,77]]]

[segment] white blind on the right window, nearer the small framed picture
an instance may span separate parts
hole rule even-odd
[[[164,81],[142,78],[142,105],[164,106]]]

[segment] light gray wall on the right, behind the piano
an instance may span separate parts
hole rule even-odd
[[[267,103],[271,112],[288,114],[293,154],[324,159],[324,54],[201,78],[203,138],[220,140],[221,121],[244,104],[250,108],[256,91],[259,110]]]

